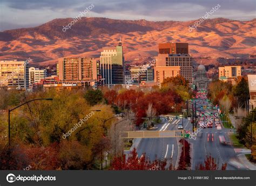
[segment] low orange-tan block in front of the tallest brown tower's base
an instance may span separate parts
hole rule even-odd
[[[154,67],[154,81],[158,86],[165,78],[176,77],[180,75],[180,66],[155,66]]]

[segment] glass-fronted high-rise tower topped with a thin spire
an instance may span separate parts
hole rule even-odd
[[[106,85],[124,84],[124,55],[121,41],[116,47],[104,47],[100,53],[100,72]]]

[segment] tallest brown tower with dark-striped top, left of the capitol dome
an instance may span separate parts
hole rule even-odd
[[[188,54],[187,43],[159,44],[156,66],[180,66],[180,75],[192,84],[192,57]]]

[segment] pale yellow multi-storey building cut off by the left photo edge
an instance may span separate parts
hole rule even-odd
[[[26,61],[0,61],[0,86],[16,89],[29,88],[29,66]]]

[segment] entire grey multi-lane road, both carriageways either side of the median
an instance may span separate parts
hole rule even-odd
[[[208,102],[206,98],[199,98],[194,101],[197,101],[197,111],[199,114],[198,120],[200,120],[200,118],[203,118],[206,122],[207,120],[211,120],[211,114],[214,115],[215,113],[217,113],[217,110],[207,108]],[[204,115],[200,115],[200,113],[204,113]],[[215,118],[219,119],[219,116],[217,115],[215,116]],[[212,122],[212,128],[199,128],[199,126],[197,126],[197,135],[193,137],[193,139],[186,139],[188,142],[193,144],[193,149],[191,150],[193,152],[192,170],[197,170],[199,168],[199,165],[204,164],[206,157],[210,155],[218,163],[219,169],[221,168],[222,164],[225,163],[227,163],[227,170],[247,169],[248,167],[244,166],[243,163],[240,162],[240,160],[238,159],[238,154],[235,153],[234,147],[230,143],[230,137],[228,136],[228,133],[230,133],[230,129],[225,129],[221,121],[221,128],[215,127],[215,119],[213,119]],[[169,121],[167,121],[167,118],[164,118],[164,122],[162,124],[158,124],[157,128],[154,130],[178,130],[178,123],[181,123],[181,119],[176,119],[172,117]],[[184,118],[183,123],[184,129],[190,130],[192,134],[191,121]],[[220,138],[224,139],[224,141],[229,144],[221,143]],[[174,137],[142,139],[137,148],[137,152],[139,156],[145,153],[150,161],[154,161],[156,159],[167,159],[172,162],[173,166],[175,166],[177,161],[179,160],[178,140],[179,139]]]

